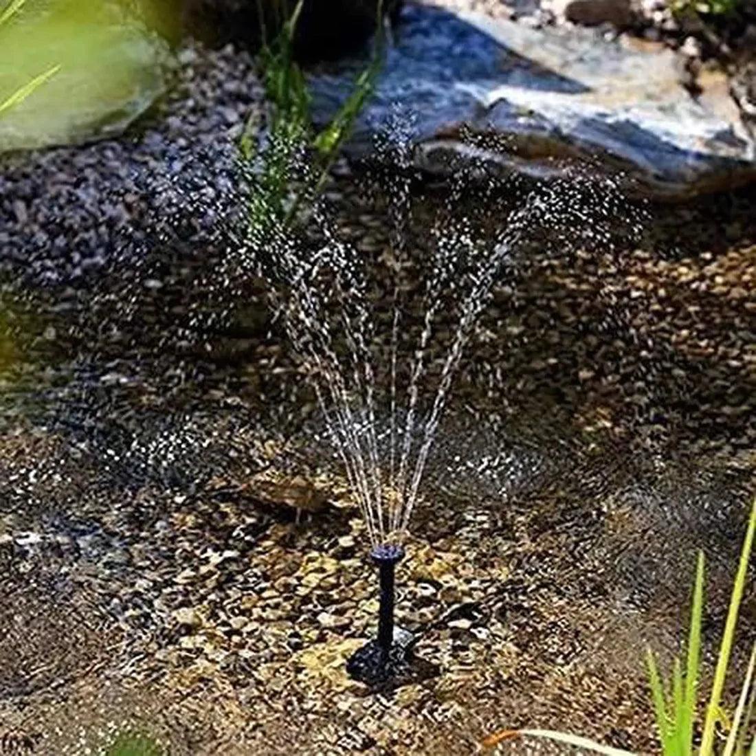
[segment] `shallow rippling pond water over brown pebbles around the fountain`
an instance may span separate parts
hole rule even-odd
[[[326,198],[379,282],[380,336],[395,209],[375,187],[339,164]],[[530,722],[649,751],[646,643],[677,649],[699,547],[720,627],[754,490],[753,191],[653,206],[571,188],[528,220],[399,567],[398,618],[434,671],[371,695],[344,668],[374,632],[370,541],[301,361],[265,283],[224,277],[217,218],[152,212],[152,190],[103,265],[56,279],[3,259],[2,727],[50,754],[119,727],[175,754],[462,753]],[[490,242],[527,191],[413,184],[407,287],[438,218]],[[408,307],[408,336],[420,322]],[[743,648],[754,618],[751,591]]]

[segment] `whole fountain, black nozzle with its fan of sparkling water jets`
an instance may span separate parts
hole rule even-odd
[[[328,439],[361,508],[370,558],[379,573],[380,609],[375,640],[358,649],[347,668],[352,677],[371,685],[401,677],[411,666],[417,638],[395,625],[395,569],[404,557],[454,375],[494,287],[528,264],[526,253],[532,254],[534,240],[541,253],[548,249],[549,236],[563,244],[570,233],[570,243],[608,244],[620,208],[615,184],[605,182],[599,195],[578,168],[548,184],[524,184],[513,176],[491,178],[482,163],[472,161],[457,172],[445,212],[431,228],[431,260],[419,276],[424,280],[419,301],[413,301],[402,278],[418,265],[407,253],[412,141],[411,125],[398,116],[378,146],[383,162],[391,166],[378,183],[389,198],[393,223],[392,313],[374,311],[378,295],[371,267],[376,262],[339,238],[320,197],[309,198],[307,216],[308,231],[318,232],[315,243],[295,226],[268,217],[265,228],[256,222],[234,228],[223,269],[224,280],[237,280],[240,286],[249,274],[268,281],[273,310],[302,360]],[[300,166],[302,170],[306,168]],[[245,175],[254,187],[254,175]],[[585,191],[602,201],[588,209],[581,197]],[[450,221],[471,192],[479,194],[484,207],[495,206],[506,192],[521,197],[503,212],[492,240],[476,231],[469,215]],[[571,222],[586,212],[592,223],[581,237]],[[628,215],[631,231],[639,231],[640,217]],[[545,238],[544,230],[549,234]],[[434,361],[439,352],[441,358]]]

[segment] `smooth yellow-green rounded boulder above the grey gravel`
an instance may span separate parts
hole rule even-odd
[[[0,31],[0,49],[0,100],[60,66],[3,113],[0,152],[119,135],[165,88],[168,45],[116,2],[29,4]]]

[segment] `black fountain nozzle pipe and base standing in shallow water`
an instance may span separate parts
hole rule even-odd
[[[370,552],[378,567],[380,579],[380,605],[378,609],[378,636],[355,651],[346,669],[362,683],[387,683],[407,671],[412,661],[416,639],[410,631],[394,624],[395,569],[404,557],[401,546],[383,544]]]

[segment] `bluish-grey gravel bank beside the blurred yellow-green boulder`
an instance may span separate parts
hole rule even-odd
[[[3,159],[2,268],[27,281],[76,283],[144,235],[140,195],[150,181],[180,173],[187,155],[206,155],[208,170],[214,157],[218,167],[228,164],[229,143],[262,104],[252,57],[231,47],[187,47],[175,77],[166,101],[121,138]]]

